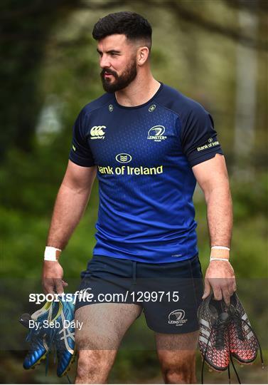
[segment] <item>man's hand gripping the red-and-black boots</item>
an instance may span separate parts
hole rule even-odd
[[[236,283],[235,272],[227,260],[210,261],[205,272],[205,289],[202,299],[208,297],[211,288],[215,299],[218,301],[224,299],[225,304],[230,305],[230,297],[236,291]]]

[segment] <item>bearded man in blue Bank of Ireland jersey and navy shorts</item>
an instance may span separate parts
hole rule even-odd
[[[107,93],[82,109],[73,128],[48,234],[44,289],[63,292],[58,257],[85,210],[97,173],[97,244],[80,286],[97,303],[76,304],[75,317],[83,322],[75,333],[76,383],[107,381],[122,337],[142,310],[155,332],[164,381],[193,383],[202,294],[208,297],[211,287],[215,299],[228,303],[235,291],[228,262],[232,201],[225,158],[209,113],[152,76],[146,19],[132,12],[109,14],[97,22],[93,37]],[[213,247],[204,292],[192,202],[196,180],[205,194]],[[165,300],[147,302],[145,294],[141,302],[134,295],[118,302],[98,297],[126,296],[137,287],[141,297],[145,289],[164,288]]]

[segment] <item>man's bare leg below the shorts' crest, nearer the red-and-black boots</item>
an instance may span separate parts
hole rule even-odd
[[[196,384],[195,352],[198,334],[199,331],[186,334],[155,334],[165,384]]]

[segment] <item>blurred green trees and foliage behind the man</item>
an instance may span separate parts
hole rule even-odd
[[[234,205],[232,265],[267,361],[267,4],[262,0],[1,1],[4,317],[2,313],[0,325],[14,347],[0,347],[2,383],[65,382],[53,374],[53,365],[48,377],[41,367],[23,371],[25,351],[15,347],[15,339],[25,337],[17,318],[29,304],[20,293],[29,282],[31,287],[40,284],[45,238],[68,162],[73,122],[82,106],[103,93],[92,27],[100,17],[124,10],[142,14],[153,26],[155,78],[203,104],[214,118]],[[67,281],[79,279],[91,257],[97,202],[96,181],[85,216],[61,259]],[[199,188],[194,202],[205,272],[210,247]],[[14,279],[17,286],[19,282],[15,297],[6,279]],[[148,341],[146,347],[132,347],[141,337]],[[267,383],[267,371],[259,363],[239,371],[243,383]],[[224,383],[224,376],[207,373],[206,379]],[[161,383],[153,336],[143,317],[129,329],[110,381]]]

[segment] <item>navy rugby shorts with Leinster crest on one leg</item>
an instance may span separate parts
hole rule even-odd
[[[154,332],[180,334],[199,329],[196,313],[203,276],[198,255],[161,264],[95,255],[81,278],[75,310],[96,303],[138,304]]]

